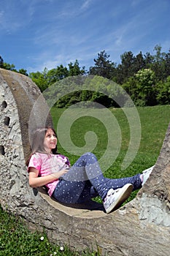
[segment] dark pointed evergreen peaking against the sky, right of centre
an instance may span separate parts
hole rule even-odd
[[[103,78],[112,79],[115,74],[115,64],[109,60],[109,55],[105,50],[98,53],[98,58],[94,59],[95,66],[89,68],[89,75],[99,75]]]

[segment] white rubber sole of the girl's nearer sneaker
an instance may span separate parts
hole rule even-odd
[[[118,197],[117,200],[115,200],[115,203],[113,203],[112,206],[110,206],[107,209],[107,214],[109,214],[113,210],[116,210],[122,205],[123,202],[125,202],[125,200],[131,195],[134,186],[132,184],[125,184],[125,186],[122,187],[122,189],[122,195],[120,195],[120,197]]]

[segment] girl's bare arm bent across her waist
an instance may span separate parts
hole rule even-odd
[[[55,181],[64,173],[67,173],[68,170],[60,170],[57,173],[51,173],[47,176],[39,177],[39,170],[36,170],[34,167],[29,168],[29,186],[30,187],[42,187],[52,181]]]

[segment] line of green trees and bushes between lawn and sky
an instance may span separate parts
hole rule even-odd
[[[45,67],[42,72],[28,74],[26,69],[17,71],[14,64],[5,63],[1,56],[0,67],[28,75],[41,91],[45,91],[63,78],[94,75],[117,83],[137,106],[170,104],[170,49],[168,53],[162,52],[160,45],[155,46],[152,55],[143,54],[141,51],[134,56],[131,51],[125,52],[120,56],[120,64],[111,61],[110,56],[103,50],[98,53],[93,66],[88,70],[80,67],[79,62],[75,60],[74,63],[70,62],[68,67],[61,64],[50,70]],[[56,105],[63,108],[82,100],[98,102],[106,107],[117,106],[109,97],[96,91],[81,91],[67,95]]]

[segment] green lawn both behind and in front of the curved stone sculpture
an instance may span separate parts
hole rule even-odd
[[[125,112],[122,109],[80,109],[78,112],[72,109],[68,111],[66,109],[51,109],[54,127],[55,129],[60,127],[58,129],[58,151],[61,154],[66,154],[72,164],[80,153],[85,150],[90,151],[89,148],[98,159],[101,159],[104,152],[108,151],[106,159],[104,158],[106,164],[109,159],[112,160],[112,155],[115,157],[110,162],[109,168],[104,170],[104,176],[108,178],[132,176],[154,165],[160,154],[170,120],[169,105],[137,108],[138,123],[141,125],[139,149],[136,150],[136,156],[130,161],[128,167],[123,170],[122,163],[131,137],[129,120]],[[90,116],[88,116],[89,113]],[[131,125],[133,126],[133,123]],[[93,133],[87,133],[89,131]],[[139,131],[135,136],[138,135]],[[110,140],[112,144],[109,145],[108,150]],[[64,141],[66,141],[65,144]],[[133,199],[135,195],[136,192],[133,192],[129,200]],[[0,255],[78,255],[77,252],[71,252],[67,246],[62,248],[59,245],[50,244],[45,233],[31,233],[23,225],[22,220],[4,212],[1,208],[0,217]],[[81,255],[98,254],[82,252]]]

